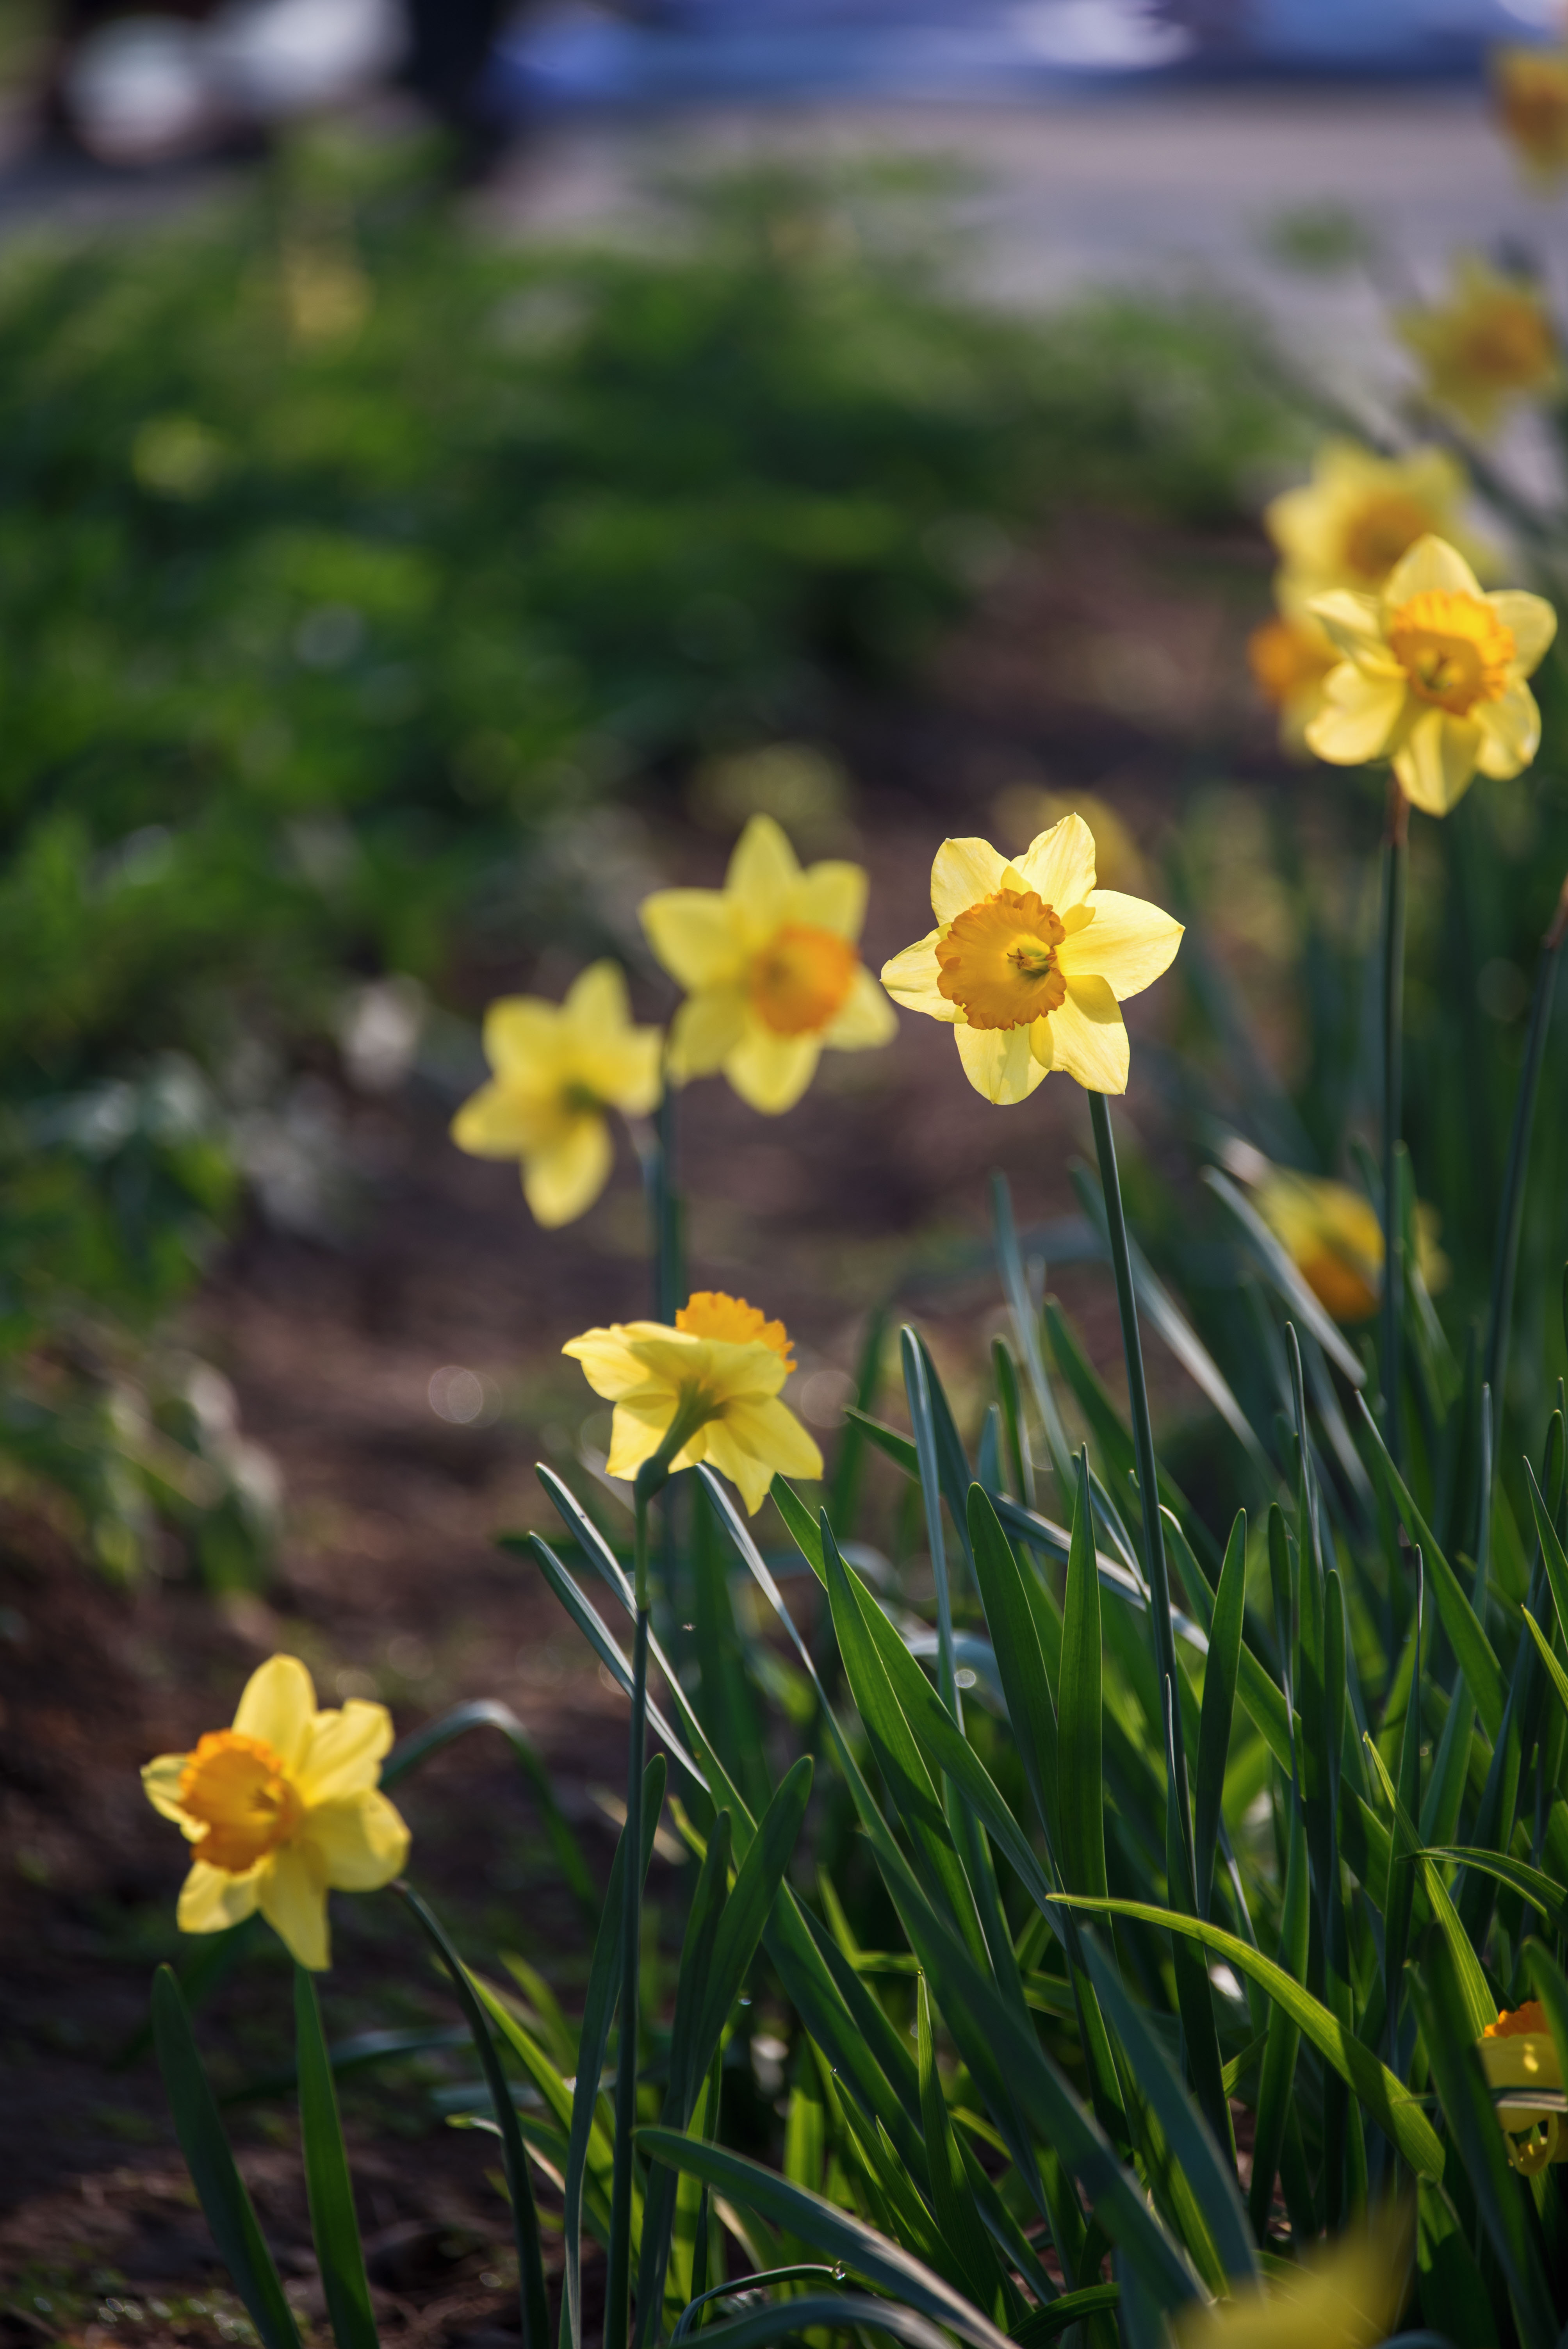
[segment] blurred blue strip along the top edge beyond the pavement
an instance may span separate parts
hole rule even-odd
[[[1474,78],[1554,0],[556,0],[502,38],[500,113],[704,99],[1007,99],[1232,75]]]

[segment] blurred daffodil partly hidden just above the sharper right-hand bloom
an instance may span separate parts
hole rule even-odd
[[[1312,479],[1263,512],[1279,550],[1275,590],[1284,618],[1310,622],[1312,597],[1333,587],[1373,594],[1399,557],[1432,533],[1476,561],[1479,550],[1460,531],[1467,489],[1465,467],[1444,449],[1385,458],[1357,442],[1324,442]]]

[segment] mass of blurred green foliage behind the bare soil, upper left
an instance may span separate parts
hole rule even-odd
[[[277,1083],[354,980],[439,987],[455,940],[570,918],[552,827],[899,677],[1054,498],[1223,512],[1282,439],[1228,317],[951,294],[930,174],[676,186],[636,244],[549,251],[465,223],[432,162],[317,139],[134,240],[5,258],[28,1391],[200,1271],[235,1071]],[[181,1116],[143,1116],[169,1071]]]

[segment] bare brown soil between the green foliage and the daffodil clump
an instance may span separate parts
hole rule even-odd
[[[1096,789],[1143,836],[1169,817],[1174,773],[1237,716],[1232,606],[1246,604],[1256,568],[1249,554],[1216,587],[1195,554],[1211,566],[1216,550],[1068,531],[1000,583],[922,702],[845,712],[857,792],[833,836],[803,848],[873,867],[873,965],[930,926],[939,834],[1007,829],[1000,794],[1014,792],[1019,808],[1019,787]],[[1268,731],[1249,723],[1253,763],[1268,766]],[[716,834],[650,817],[650,839],[664,874],[718,876]],[[535,968],[519,956],[486,980],[521,987]],[[643,994],[660,1012],[653,987]],[[1134,1057],[1162,1017],[1157,998],[1134,1008]],[[228,1719],[263,1656],[303,1654],[326,1698],[385,1696],[399,1731],[465,1696],[505,1698],[549,1757],[589,1863],[608,1865],[599,1790],[624,1776],[624,1703],[538,1574],[493,1534],[549,1522],[530,1463],[570,1454],[592,1426],[594,1398],[561,1341],[648,1311],[631,1163],[582,1224],[542,1233],[512,1170],[448,1146],[437,1090],[415,1081],[387,1102],[340,1088],[340,1116],[357,1177],[336,1240],[254,1224],[190,1313],[190,1341],[232,1379],[246,1435],[284,1475],[270,1588],[228,1602],[185,1579],[115,1590],[40,1513],[9,1506],[0,1517],[0,1816],[12,1853],[0,2286],[19,2342],[237,2337],[155,2065],[131,2048],[150,1968],[178,1954],[181,1877],[178,1839],[146,1806],[136,1769]],[[1136,1097],[1117,1111],[1122,1130],[1148,1116]],[[1153,1130],[1141,1139],[1160,1146]],[[1028,1111],[988,1109],[946,1031],[913,1017],[887,1052],[829,1057],[777,1123],[721,1083],[697,1085],[681,1102],[692,1285],[742,1290],[782,1313],[803,1381],[850,1367],[869,1308],[899,1299],[920,1311],[962,1398],[995,1315],[986,1172],[1007,1167],[1021,1219],[1038,1221],[1073,1212],[1066,1170],[1087,1151],[1077,1088],[1056,1081]],[[1115,1377],[1108,1278],[1087,1268],[1059,1285]],[[434,1414],[430,1381],[444,1365],[493,1381],[491,1426]],[[1150,1367],[1178,1402],[1171,1365]],[[573,2011],[584,1926],[502,1743],[467,1738],[399,1802],[411,1875],[465,1950],[486,1961],[519,1950]],[[674,1875],[655,1865],[655,1900],[671,1893]],[[333,1929],[333,2037],[453,2020],[394,1896],[338,1898]],[[223,2093],[289,2062],[289,1997],[286,1964],[263,1947],[202,2011]],[[432,2084],[469,2074],[455,2051],[345,2086],[378,2314],[397,2340],[484,2342],[516,2326],[493,2138],[444,2128],[430,2105]],[[291,2295],[315,2318],[291,2098],[237,2102],[230,2119]]]

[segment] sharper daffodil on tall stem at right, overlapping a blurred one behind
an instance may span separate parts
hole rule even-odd
[[[1540,745],[1526,677],[1556,634],[1537,594],[1483,594],[1441,538],[1420,538],[1383,594],[1324,594],[1312,611],[1343,653],[1307,745],[1336,766],[1392,759],[1404,796],[1446,815],[1476,768],[1519,775]]]

